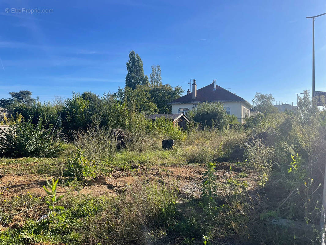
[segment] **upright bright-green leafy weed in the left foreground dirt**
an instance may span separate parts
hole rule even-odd
[[[43,189],[45,192],[48,194],[47,197],[45,197],[45,202],[49,206],[49,217],[50,217],[50,222],[54,222],[55,219],[58,219],[60,221],[63,221],[65,219],[65,215],[61,214],[58,212],[59,210],[65,209],[63,206],[56,205],[58,201],[60,201],[64,195],[61,195],[59,197],[56,196],[57,193],[57,184],[58,184],[58,179],[54,181],[54,179],[51,179],[51,183],[46,180],[47,187],[50,189],[48,190],[45,186],[43,186]]]

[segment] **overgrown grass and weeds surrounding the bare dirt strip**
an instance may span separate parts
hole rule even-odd
[[[118,150],[111,130],[89,130],[77,133],[74,143],[57,158],[0,158],[1,174],[28,177],[33,173],[65,180],[69,177],[65,171],[73,170],[73,175],[82,174],[74,182],[79,187],[87,178],[110,176],[112,171],[130,173],[148,166],[204,167],[214,162],[211,172],[204,176],[203,183],[208,181],[209,185],[203,185],[202,191],[207,186],[214,188],[200,199],[185,198],[176,187],[162,185],[166,182],[161,178],[160,182],[136,182],[120,189],[116,197],[83,196],[71,191],[59,204],[65,207],[65,221],[51,227],[47,221],[36,222],[45,205],[34,194],[20,198],[28,203],[28,209],[35,207],[39,212],[21,225],[12,224],[17,212],[25,214],[25,206],[6,192],[0,197],[1,216],[6,217],[6,223],[0,221],[5,228],[1,242],[316,244],[326,138],[322,124],[309,120],[306,123],[283,114],[274,120],[271,116],[263,118],[246,130],[189,129],[169,151],[161,149],[166,132],[126,132],[126,147]],[[86,159],[75,157],[76,161],[67,161],[77,150],[84,152]],[[222,172],[219,179],[214,168]],[[303,222],[311,229],[303,231],[271,222],[280,218]]]

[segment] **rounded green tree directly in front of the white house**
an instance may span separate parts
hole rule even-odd
[[[223,104],[203,103],[197,107],[197,110],[189,112],[189,117],[196,123],[200,123],[202,127],[217,127],[222,129],[228,123],[228,117]]]

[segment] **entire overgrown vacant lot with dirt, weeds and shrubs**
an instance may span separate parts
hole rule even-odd
[[[17,124],[0,158],[0,244],[317,244],[326,136],[316,118],[187,131],[144,121],[59,140]]]

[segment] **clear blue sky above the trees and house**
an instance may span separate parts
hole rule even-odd
[[[53,13],[15,13],[22,8]],[[262,92],[296,104],[295,93],[311,90],[312,20],[305,17],[324,12],[324,0],[2,0],[0,98],[19,90],[41,101],[115,92],[135,50],[145,74],[161,66],[163,83],[187,90],[190,79],[198,88],[216,79],[249,102]],[[315,51],[316,90],[326,91],[326,16],[315,21]]]

